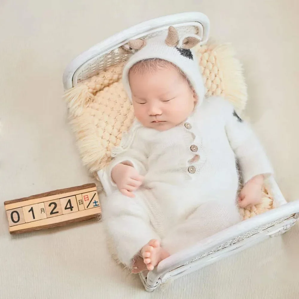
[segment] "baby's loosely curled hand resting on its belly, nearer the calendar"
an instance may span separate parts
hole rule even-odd
[[[122,163],[112,168],[111,176],[118,190],[129,197],[135,197],[132,191],[138,189],[144,180],[134,167]]]

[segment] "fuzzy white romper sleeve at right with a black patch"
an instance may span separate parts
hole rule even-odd
[[[239,162],[244,184],[260,174],[267,179],[273,169],[249,123],[239,117],[232,105],[227,112],[225,131]]]

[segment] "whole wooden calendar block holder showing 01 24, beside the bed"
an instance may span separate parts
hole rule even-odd
[[[11,234],[87,220],[101,213],[95,184],[6,201],[4,207]]]

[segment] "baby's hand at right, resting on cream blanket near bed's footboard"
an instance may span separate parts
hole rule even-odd
[[[248,205],[257,205],[261,202],[263,182],[264,176],[258,175],[245,184],[238,199],[240,208],[245,208]]]

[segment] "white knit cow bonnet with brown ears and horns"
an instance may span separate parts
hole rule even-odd
[[[179,38],[177,30],[170,26],[167,36],[155,36],[148,39],[134,39],[125,46],[126,50],[134,54],[129,58],[123,68],[123,86],[132,100],[132,92],[129,85],[129,70],[137,62],[149,58],[160,58],[172,62],[188,78],[198,96],[200,104],[205,95],[205,86],[202,75],[199,70],[199,63],[194,51],[191,49],[200,42],[200,37],[195,34],[189,34]]]

